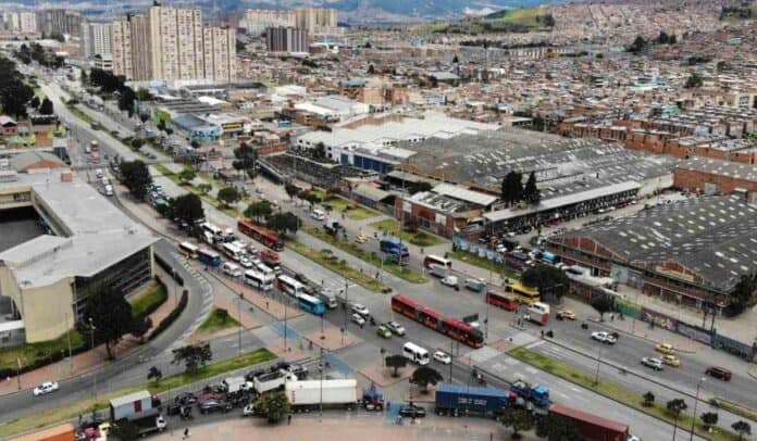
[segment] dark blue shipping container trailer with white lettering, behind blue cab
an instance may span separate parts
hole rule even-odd
[[[512,405],[517,396],[497,388],[466,387],[442,382],[436,387],[436,415],[475,415],[495,418]]]

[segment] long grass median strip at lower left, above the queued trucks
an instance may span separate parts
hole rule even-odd
[[[215,377],[220,374],[265,363],[274,358],[276,358],[276,355],[274,355],[268,349],[262,348],[233,358],[211,363],[195,374],[172,375],[161,379],[158,383],[154,381],[144,382],[141,385],[121,389],[113,393],[100,395],[97,400],[94,398],[80,400],[64,407],[55,407],[49,411],[38,412],[23,418],[13,419],[0,425],[0,437],[9,438],[17,433],[40,429],[70,419],[75,419],[78,415],[88,415],[92,412],[92,410],[102,410],[108,407],[110,400],[138,390],[148,389],[151,393],[158,394],[194,382],[199,382],[204,379]],[[147,376],[147,367],[145,368],[145,376]]]

